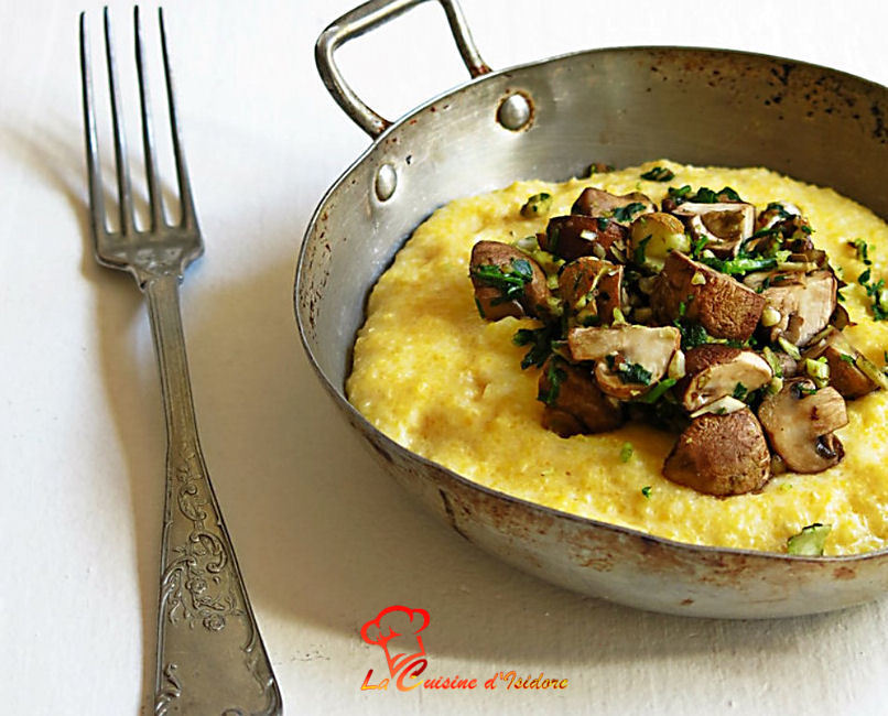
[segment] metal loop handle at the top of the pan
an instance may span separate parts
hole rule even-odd
[[[365,32],[378,28],[418,4],[427,1],[429,0],[370,0],[332,22],[327,29],[321,33],[317,43],[315,43],[314,57],[317,64],[317,72],[321,73],[321,78],[324,80],[327,90],[333,95],[333,98],[338,102],[339,107],[343,108],[345,113],[373,139],[391,127],[391,122],[361,101],[355,94],[355,90],[351,89],[343,78],[333,55],[339,45],[355,37],[359,37]],[[444,8],[447,22],[451,25],[451,32],[453,32],[456,46],[459,48],[459,55],[462,55],[463,62],[472,77],[478,77],[479,75],[490,72],[490,67],[487,66],[484,59],[481,59],[480,54],[478,54],[478,48],[475,46],[472,32],[469,32],[465,15],[463,15],[457,0],[437,1],[441,3],[441,7]]]

